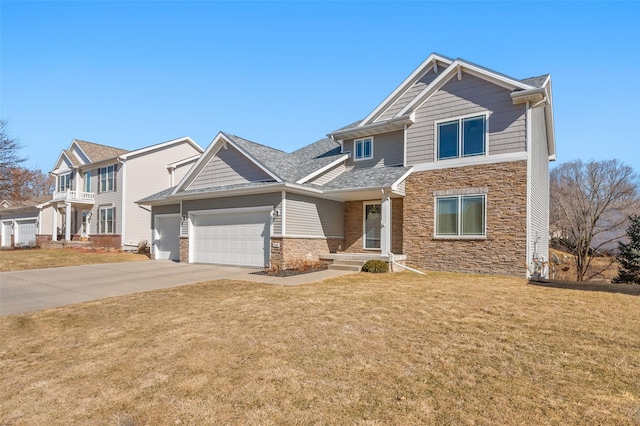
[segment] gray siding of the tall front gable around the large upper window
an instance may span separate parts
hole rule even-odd
[[[454,75],[416,110],[407,130],[407,166],[434,160],[434,123],[488,112],[489,155],[524,152],[525,106],[513,105],[510,91],[467,73]]]

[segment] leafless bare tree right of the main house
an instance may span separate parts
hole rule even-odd
[[[640,181],[618,160],[580,160],[551,171],[552,236],[576,256],[576,280],[586,276],[595,253],[625,234],[630,212],[637,208]]]

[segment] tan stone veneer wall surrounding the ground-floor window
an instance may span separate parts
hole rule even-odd
[[[434,191],[487,188],[484,239],[434,238]],[[404,254],[422,269],[526,274],[527,162],[415,172],[406,180]]]

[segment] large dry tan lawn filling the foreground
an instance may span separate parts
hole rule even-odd
[[[0,423],[638,424],[640,286],[576,288],[214,281],[3,317]]]

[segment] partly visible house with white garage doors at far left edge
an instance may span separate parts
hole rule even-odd
[[[26,201],[0,202],[0,247],[34,247],[43,218],[39,205],[50,195]]]

